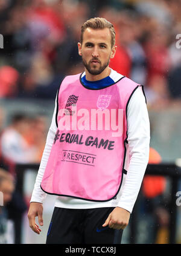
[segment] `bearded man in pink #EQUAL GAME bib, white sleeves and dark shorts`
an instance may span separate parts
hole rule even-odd
[[[109,68],[115,30],[103,18],[81,27],[84,72],[67,76],[31,197],[40,234],[46,193],[57,198],[46,243],[121,243],[148,163],[150,126],[142,87]]]

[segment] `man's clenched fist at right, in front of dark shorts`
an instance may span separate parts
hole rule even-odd
[[[106,222],[102,225],[103,227],[109,225],[109,228],[113,229],[124,229],[130,219],[130,212],[121,208],[116,207],[110,212],[109,216],[106,219]]]

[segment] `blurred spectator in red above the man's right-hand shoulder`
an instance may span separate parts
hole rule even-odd
[[[168,51],[169,37],[167,29],[155,23],[144,44],[147,56],[148,76],[145,90],[148,96],[148,104],[162,105],[167,102],[168,94],[168,71],[171,68],[170,53]],[[150,94],[152,99],[149,100]]]

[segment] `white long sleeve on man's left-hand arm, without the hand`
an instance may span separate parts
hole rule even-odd
[[[52,144],[54,142],[54,137],[56,134],[56,111],[57,111],[57,97],[55,102],[54,113],[51,120],[51,125],[49,127],[48,135],[46,137],[46,144],[43,151],[42,159],[39,166],[39,171],[37,173],[36,182],[34,184],[33,193],[31,195],[30,202],[39,202],[43,203],[43,200],[46,198],[46,193],[40,188],[40,183],[42,182],[43,174],[45,172],[46,163],[48,162],[48,157],[51,151]]]

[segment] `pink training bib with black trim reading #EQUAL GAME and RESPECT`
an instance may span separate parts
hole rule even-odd
[[[41,188],[48,194],[108,201],[121,188],[127,105],[138,84],[122,77],[99,90],[67,76],[58,93],[57,133]]]

